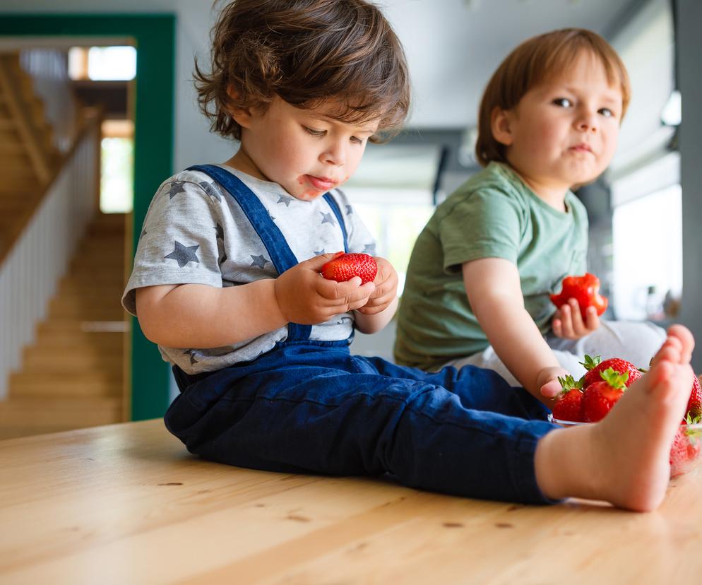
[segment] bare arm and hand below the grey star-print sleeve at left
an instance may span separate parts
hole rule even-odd
[[[354,278],[336,283],[319,275],[333,254],[297,264],[278,278],[216,288],[159,285],[136,290],[136,312],[145,336],[172,348],[215,348],[251,339],[285,324],[323,323],[363,307],[375,290]]]

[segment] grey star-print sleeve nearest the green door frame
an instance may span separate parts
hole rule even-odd
[[[136,315],[136,289],[167,284],[222,286],[220,204],[212,186],[179,181],[162,184],[139,237],[122,304]],[[220,226],[218,228],[218,226]]]

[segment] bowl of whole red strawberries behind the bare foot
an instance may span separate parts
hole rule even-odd
[[[581,362],[585,375],[559,378],[562,390],[557,396],[549,422],[561,427],[597,423],[607,416],[624,391],[636,382],[645,370],[619,358],[602,361],[585,355]],[[697,378],[687,403],[687,411],[670,449],[670,476],[681,475],[702,459],[702,389]]]

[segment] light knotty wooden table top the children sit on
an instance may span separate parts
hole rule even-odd
[[[161,420],[0,442],[2,584],[570,584],[702,574],[702,470],[656,512],[201,461]]]

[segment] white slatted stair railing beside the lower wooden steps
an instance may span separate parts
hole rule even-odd
[[[47,314],[78,240],[97,208],[100,124],[92,119],[78,137],[37,212],[0,264],[0,399],[23,346]]]

